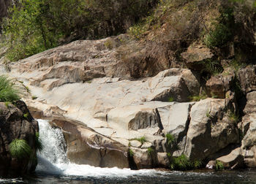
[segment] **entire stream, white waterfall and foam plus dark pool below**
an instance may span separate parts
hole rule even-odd
[[[67,159],[64,136],[47,120],[38,120],[44,145],[38,154],[38,166],[33,176],[1,180],[0,183],[256,183],[256,170],[210,172],[163,172],[155,169],[99,168],[72,164]]]

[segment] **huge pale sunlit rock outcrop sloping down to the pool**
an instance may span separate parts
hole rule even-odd
[[[253,71],[249,80],[243,80],[244,69],[236,74],[227,68],[203,83],[199,72],[173,68],[135,80],[134,71],[116,57],[120,39],[125,37],[76,41],[9,66],[8,74],[26,91],[24,100],[34,117],[53,119],[64,131],[71,161],[168,168],[171,157],[210,161],[227,156],[232,149],[222,150],[240,147],[240,143],[244,161],[251,158],[246,150],[254,153],[256,142]],[[105,42],[110,41],[113,47],[108,48]],[[192,59],[188,54],[195,55],[195,66],[213,57],[205,47],[191,49],[195,52],[183,56]],[[239,80],[243,80],[241,93],[247,96],[240,123]],[[190,101],[200,97],[203,88],[208,98]]]

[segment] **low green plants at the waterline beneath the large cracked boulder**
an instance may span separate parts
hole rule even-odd
[[[170,169],[172,170],[189,170],[189,169],[197,169],[202,166],[202,162],[199,160],[189,161],[189,158],[182,154],[179,157],[170,158]]]

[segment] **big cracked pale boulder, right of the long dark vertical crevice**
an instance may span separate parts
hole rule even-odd
[[[229,105],[225,99],[205,99],[192,107],[184,152],[189,158],[203,159],[238,143],[238,129],[225,112]]]

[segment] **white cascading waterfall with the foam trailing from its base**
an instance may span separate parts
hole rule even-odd
[[[131,175],[156,175],[155,170],[131,170],[100,168],[89,165],[72,164],[67,159],[65,141],[60,129],[53,129],[47,120],[38,120],[39,138],[43,149],[38,153],[37,172],[50,175],[84,176],[84,177],[127,177]]]

